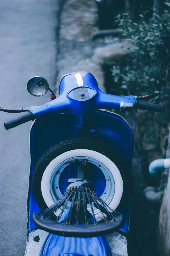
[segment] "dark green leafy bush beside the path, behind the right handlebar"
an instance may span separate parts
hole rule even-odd
[[[160,100],[170,96],[170,3],[147,21],[147,12],[140,14],[134,23],[129,13],[117,16],[126,41],[132,46],[123,47],[129,52],[125,65],[113,65],[112,75],[119,95],[147,95],[161,91]],[[153,102],[154,100],[152,100]],[[157,103],[158,99],[155,99]]]

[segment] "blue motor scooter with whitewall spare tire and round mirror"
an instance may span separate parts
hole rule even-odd
[[[42,106],[4,123],[6,130],[34,121],[30,130],[30,178],[25,256],[127,255],[133,134],[118,114],[164,106],[142,102],[159,95],[114,96],[99,90],[88,72],[64,75],[59,97],[43,77],[32,77],[34,96],[51,91]]]

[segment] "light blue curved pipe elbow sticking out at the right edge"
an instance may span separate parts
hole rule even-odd
[[[170,167],[170,158],[160,158],[152,161],[149,165],[149,173],[156,175],[160,169]]]

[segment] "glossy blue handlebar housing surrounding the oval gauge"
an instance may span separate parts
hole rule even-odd
[[[54,115],[57,113],[73,113],[79,116],[86,116],[93,111],[105,108],[120,108],[121,102],[136,103],[133,96],[120,97],[102,92],[97,85],[96,79],[90,73],[80,72],[83,86],[91,88],[95,91],[95,95],[88,100],[76,100],[68,96],[69,92],[78,86],[78,82],[74,74],[65,75],[60,82],[60,96],[39,108],[32,110],[35,118],[42,115]],[[82,87],[83,87],[82,86]]]

